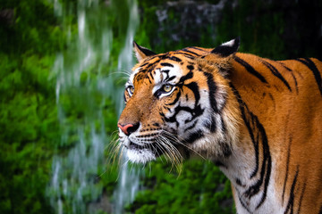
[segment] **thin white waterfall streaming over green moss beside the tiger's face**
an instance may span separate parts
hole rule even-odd
[[[64,4],[52,0],[52,3],[66,32],[67,48],[57,54],[53,68],[63,133],[58,148],[65,152],[53,159],[47,196],[58,214],[97,213],[99,210],[123,213],[124,205],[134,199],[139,188],[140,171],[130,170],[128,161],[122,160],[112,205],[109,204],[111,199],[106,199],[98,174],[106,172],[108,176],[109,173],[104,151],[111,139],[106,136],[104,113],[109,99],[114,100],[118,114],[123,109],[123,87],[116,84],[122,75],[113,74],[112,70],[129,71],[134,63],[131,43],[139,23],[137,4],[131,0],[123,0],[123,4],[117,0],[104,3],[78,0]],[[116,21],[123,18],[115,7],[123,7],[129,14],[123,40],[114,37],[108,19],[111,16]],[[74,13],[77,13],[77,25],[71,21]],[[122,41],[116,42],[124,45],[117,58],[117,68],[114,68],[111,52],[117,39]]]

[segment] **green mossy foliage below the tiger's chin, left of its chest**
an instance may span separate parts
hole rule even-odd
[[[151,163],[144,186],[127,208],[135,213],[233,213],[230,182],[210,162],[185,161],[182,173]]]

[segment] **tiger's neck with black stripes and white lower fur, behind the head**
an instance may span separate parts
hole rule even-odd
[[[238,70],[233,70],[239,74]],[[242,74],[241,74],[242,75]],[[239,81],[242,77],[238,78]],[[233,79],[234,80],[234,79]],[[278,209],[274,193],[274,164],[267,140],[267,131],[258,119],[256,106],[262,102],[256,95],[245,92],[245,85],[232,81],[230,87],[238,102],[241,115],[239,139],[232,146],[232,155],[217,161],[222,164],[220,169],[233,185],[234,201],[237,208],[247,213],[260,213],[261,210]],[[250,83],[251,84],[251,83]],[[242,95],[246,93],[245,100]],[[254,93],[256,94],[256,93]],[[252,106],[249,106],[251,103]],[[272,213],[278,211],[272,210]]]

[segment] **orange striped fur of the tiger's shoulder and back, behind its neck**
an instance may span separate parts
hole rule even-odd
[[[276,165],[277,197],[284,204],[287,203],[290,197],[287,194],[291,192],[292,181],[298,170],[293,191],[294,209],[300,208],[301,203],[301,213],[319,213],[322,205],[322,96],[312,71],[295,60],[274,62],[246,53],[236,55],[267,80],[267,84],[263,84],[233,61],[233,86],[267,130],[272,161]],[[259,59],[272,64],[292,91],[272,75]],[[321,74],[322,63],[316,59],[310,60]]]

